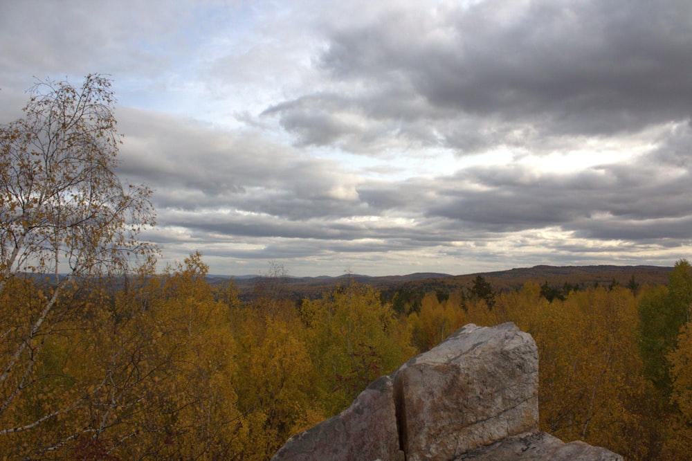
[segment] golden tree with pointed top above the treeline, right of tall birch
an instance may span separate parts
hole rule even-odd
[[[125,343],[125,334],[107,336],[120,344],[113,349],[138,357],[136,370],[129,371],[143,377],[120,409],[118,433],[129,437],[127,451],[116,451],[122,459],[233,459],[248,444],[248,424],[237,408],[230,312],[215,300],[207,273],[194,253],[150,278],[147,309],[123,328],[134,341]]]

